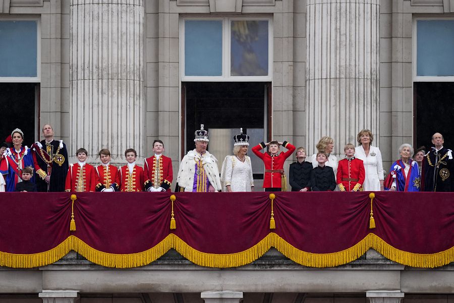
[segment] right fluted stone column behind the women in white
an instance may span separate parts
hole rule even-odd
[[[334,153],[362,129],[379,138],[379,0],[307,0],[306,148]]]

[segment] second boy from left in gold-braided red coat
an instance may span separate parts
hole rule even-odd
[[[102,164],[96,167],[99,176],[99,183],[96,186],[97,192],[118,192],[120,190],[120,172],[117,166],[110,164],[110,151],[103,148],[99,151],[99,158]]]

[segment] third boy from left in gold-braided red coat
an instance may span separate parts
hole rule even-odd
[[[122,192],[143,192],[143,168],[136,165],[136,150],[128,148],[125,156],[128,164],[120,169],[120,190]]]

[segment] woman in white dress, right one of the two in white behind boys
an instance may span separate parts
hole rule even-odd
[[[366,178],[364,179],[364,191],[383,190],[383,162],[378,147],[372,146],[374,135],[369,130],[362,130],[356,136],[358,145],[355,148],[355,157],[363,160]]]

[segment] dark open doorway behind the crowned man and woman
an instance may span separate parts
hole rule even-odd
[[[270,106],[268,82],[182,83],[182,157],[194,149],[194,132],[203,124],[209,132],[208,151],[218,159],[220,171],[224,157],[233,154],[233,137],[243,128],[250,136],[254,179],[262,179],[263,162],[252,155],[251,148],[268,141]]]

